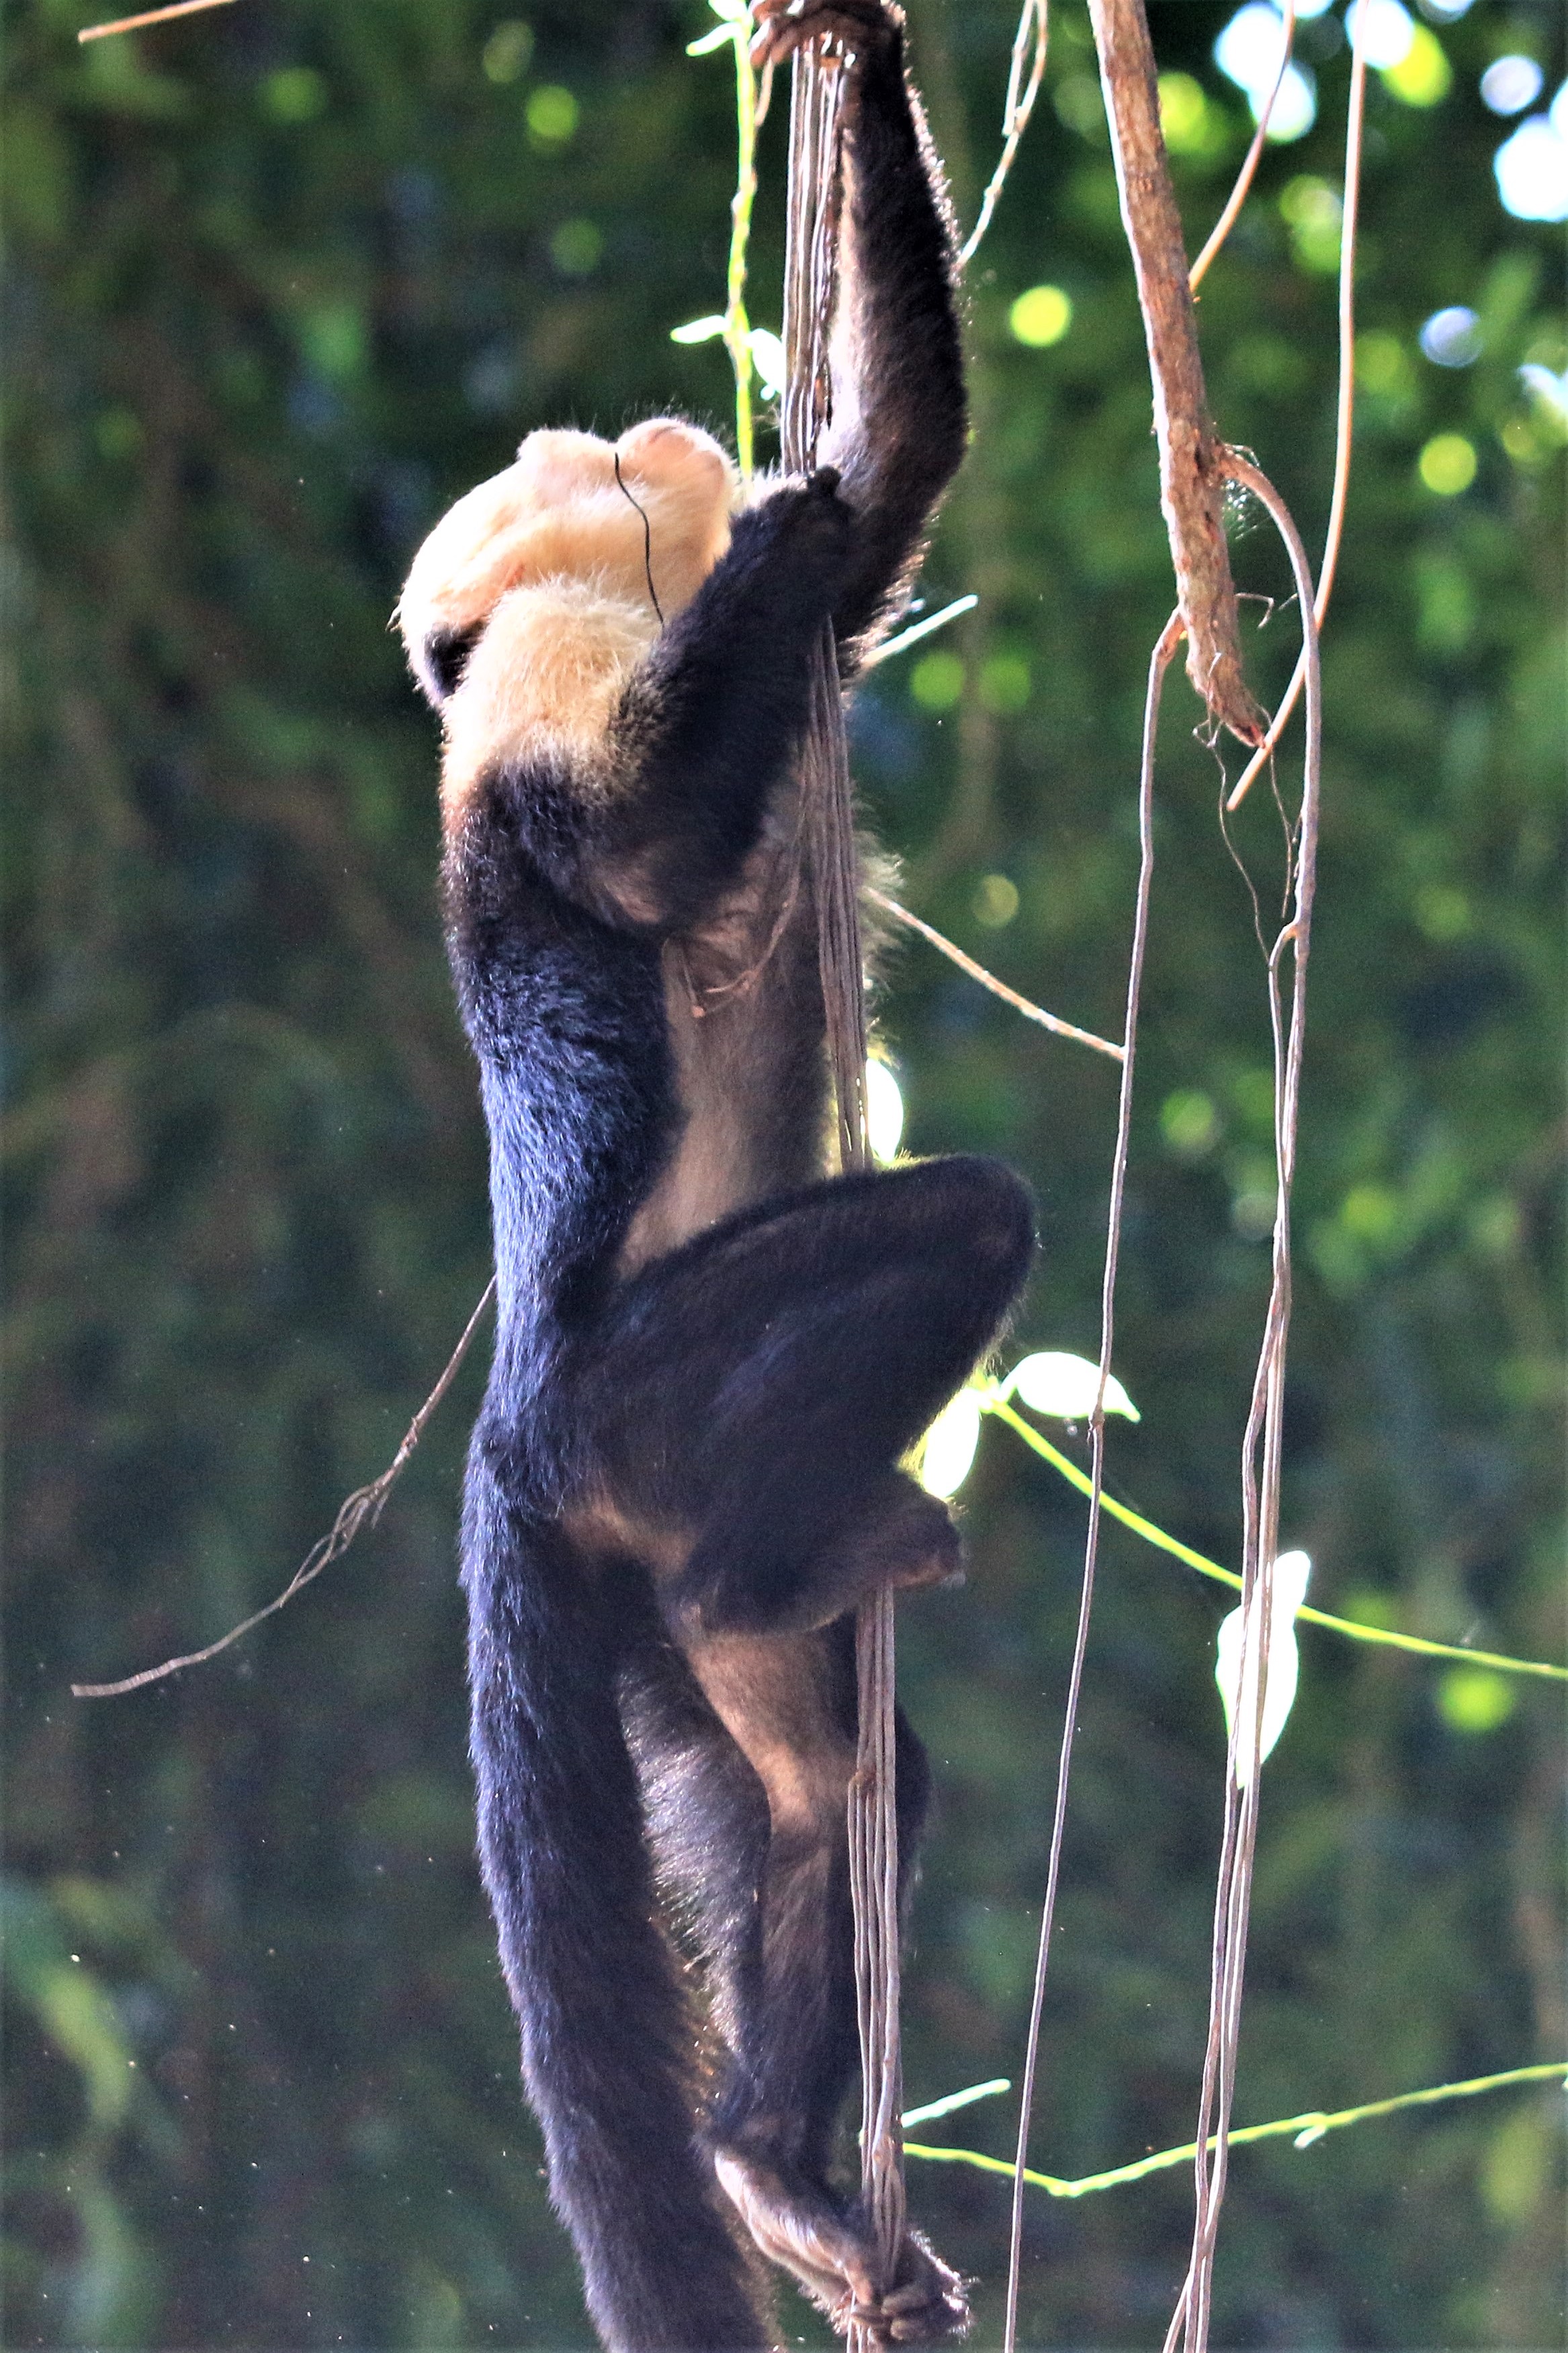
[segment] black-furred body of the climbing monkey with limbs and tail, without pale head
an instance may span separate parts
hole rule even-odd
[[[833,466],[735,515],[591,736],[509,718],[469,755],[464,727],[511,708],[480,675],[492,624],[405,595],[447,708],[447,932],[492,1139],[499,1325],[461,1539],[480,1857],[551,2195],[617,2353],[772,2344],[753,2240],[885,2341],[965,2322],[918,2238],[876,2275],[829,2181],[855,2071],[850,1612],[956,1574],[946,1508],[897,1464],[1031,1254],[991,1162],[822,1176],[810,649],[831,616],[852,668],[897,612],[965,433],[899,19],[808,7],[808,33],[845,26]],[[638,435],[650,480],[704,440]],[[542,642],[534,607],[509,612]],[[906,1871],[923,1809],[899,1722]]]

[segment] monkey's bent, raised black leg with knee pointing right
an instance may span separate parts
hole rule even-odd
[[[582,1377],[607,1487],[683,1532],[683,1638],[829,1624],[954,1574],[944,1506],[895,1466],[1022,1289],[1024,1188],[986,1160],[810,1186],[643,1268]]]

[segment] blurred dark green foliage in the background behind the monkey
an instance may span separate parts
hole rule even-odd
[[[421,532],[527,428],[727,414],[720,346],[669,341],[723,287],[727,61],[690,64],[706,19],[652,0],[527,21],[487,0],[240,0],[78,49],[85,14],[7,9],[7,2344],[582,2346],[471,1857],[452,1522],[478,1367],[374,1541],[261,1635],[132,1699],[66,1685],[266,1600],[388,1459],[485,1282],[433,729],[386,616]],[[972,219],[1010,12],[911,14]],[[1184,78],[1194,247],[1248,134],[1210,64],[1224,14],[1151,7]],[[1568,351],[1549,231],[1497,207],[1504,132],[1476,80],[1519,47],[1561,78],[1561,26],[1544,0],[1483,0],[1434,38],[1448,96],[1368,96],[1285,1541],[1328,1609],[1549,1657],[1561,435],[1516,369]],[[1314,541],[1344,49],[1335,16],[1302,40],[1318,125],[1267,153],[1201,327],[1222,431]],[[763,167],[765,315],[782,108]],[[1041,280],[1067,325],[1019,341]],[[1446,304],[1481,320],[1469,367],[1417,348]],[[1076,0],[972,273],[972,351],[975,449],[928,595],[982,602],[866,687],[857,772],[911,901],[1107,1031],[1170,574]],[[1474,452],[1467,487],[1429,487],[1439,435]],[[1250,593],[1288,588],[1245,513],[1236,567]],[[1248,612],[1271,696],[1290,612]],[[1234,1560],[1267,1019],[1182,696],[1118,1325],[1144,1419],[1116,1431],[1111,1478]],[[1262,788],[1231,833],[1267,906]],[[918,944],[883,1019],[911,1148],[998,1151],[1038,1188],[1019,1346],[1092,1353],[1107,1066]],[[965,1494],[968,1593],[904,1612],[942,1788],[913,2101],[1017,2071],[1076,1607],[1076,1499],[998,1428]],[[1222,1607],[1107,1532],[1034,2141],[1052,2172],[1191,2132]],[[1502,1706],[1476,1671],[1347,1652],[1302,1635],[1269,1762],[1241,2122],[1568,2047],[1556,1694]],[[1241,2153],[1215,2339],[1559,2341],[1559,2108],[1521,2094]],[[977,2134],[1005,2153],[1005,2104],[963,2118]],[[994,2341],[1005,2188],[932,2167],[913,2198],[982,2278]],[[1151,2341],[1187,2226],[1180,2177],[1031,2207],[1026,2341]],[[793,2306],[789,2327],[819,2341]]]

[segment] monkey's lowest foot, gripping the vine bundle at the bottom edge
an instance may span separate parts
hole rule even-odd
[[[770,2165],[732,2151],[718,2151],[713,2169],[763,2254],[789,2271],[843,2334],[850,2322],[885,2346],[956,2344],[968,2334],[963,2280],[918,2231],[904,2233],[895,2275],[883,2285],[869,2235],[826,2198],[786,2188]]]

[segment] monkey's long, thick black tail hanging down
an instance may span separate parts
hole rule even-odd
[[[509,1504],[478,1433],[464,1586],[480,1864],[589,2313],[612,2353],[768,2348],[695,2137],[612,1642],[570,1539]]]

